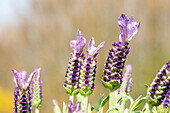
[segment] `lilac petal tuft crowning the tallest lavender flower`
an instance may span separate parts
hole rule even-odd
[[[137,23],[133,21],[133,16],[128,18],[125,14],[120,15],[118,24],[121,30],[119,35],[120,42],[130,41],[137,34],[140,26],[140,22]]]

